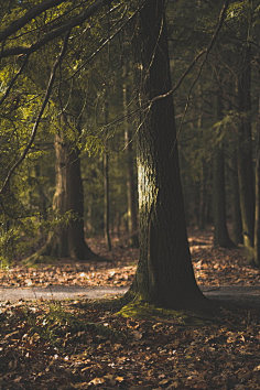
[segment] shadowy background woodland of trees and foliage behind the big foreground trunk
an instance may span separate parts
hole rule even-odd
[[[13,4],[1,4],[2,29],[32,7],[24,1]],[[59,8],[73,14],[73,4]],[[134,4],[126,7],[124,14],[122,7],[115,3],[109,13],[106,9],[85,30],[76,30],[33,140],[32,127],[62,42],[40,47],[28,66],[26,54],[11,55],[11,48],[2,58],[2,261],[18,253],[28,256],[29,248],[35,251],[51,230],[72,226],[77,218],[84,218],[86,237],[105,231],[108,248],[110,234],[127,231],[130,245],[138,243]],[[167,3],[186,224],[199,229],[214,225],[216,246],[243,245],[248,259],[259,266],[253,251],[258,251],[259,236],[260,10],[254,1],[230,1],[217,42],[207,52],[220,7],[214,1]],[[32,21],[32,30],[21,30],[19,40],[30,45],[35,36],[58,28],[58,11],[52,9]],[[31,141],[24,159],[11,172]],[[72,165],[75,169],[69,174]],[[4,183],[10,172],[11,178]],[[80,183],[84,209],[78,210]],[[64,192],[64,186],[71,189]],[[84,258],[68,252],[66,238],[58,246],[51,251],[55,256]]]

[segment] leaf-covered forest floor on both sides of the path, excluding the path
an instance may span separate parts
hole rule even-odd
[[[242,250],[213,247],[213,231],[188,231],[197,282],[258,289],[260,271]],[[130,285],[138,249],[113,238],[91,238],[90,248],[110,261],[0,271],[2,288]],[[119,315],[115,299],[0,302],[0,390],[40,389],[235,389],[260,388],[260,303],[223,306],[214,317],[141,307]],[[126,313],[126,312],[123,312]],[[122,313],[121,313],[122,314]]]

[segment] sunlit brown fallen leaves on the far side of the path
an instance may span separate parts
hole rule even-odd
[[[196,234],[196,235],[195,235]],[[260,271],[246,264],[242,249],[213,247],[213,232],[189,231],[189,245],[197,282],[202,285],[259,285]],[[100,238],[91,239],[90,247],[110,261],[79,263],[59,260],[52,267],[37,269],[20,263],[0,271],[1,286],[48,286],[57,284],[80,286],[130,285],[137,268],[138,250],[117,247],[106,252]]]

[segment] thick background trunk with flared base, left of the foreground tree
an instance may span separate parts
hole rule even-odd
[[[97,256],[84,237],[84,193],[80,155],[76,145],[66,142],[62,130],[55,136],[55,193],[53,210],[64,215],[72,212],[68,224],[59,224],[50,232],[47,242],[26,262],[46,262],[47,258],[90,260]]]

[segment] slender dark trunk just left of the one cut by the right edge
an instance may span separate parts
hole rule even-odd
[[[248,261],[253,258],[253,218],[254,218],[254,187],[252,169],[252,141],[251,141],[251,69],[250,46],[241,54],[242,65],[238,83],[239,112],[241,124],[239,129],[239,145],[237,152],[238,182],[240,208],[243,229],[243,247]]]

